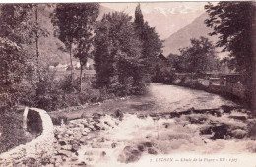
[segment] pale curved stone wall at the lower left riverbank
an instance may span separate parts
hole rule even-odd
[[[41,120],[39,124],[29,125],[28,114],[38,114]],[[36,114],[34,114],[36,113]],[[29,158],[39,158],[51,156],[53,153],[54,132],[50,116],[46,111],[37,108],[26,108],[24,112],[24,128],[30,129],[30,126],[38,125],[41,130],[40,135],[31,142],[19,145],[8,152],[0,155],[0,166],[16,166]]]

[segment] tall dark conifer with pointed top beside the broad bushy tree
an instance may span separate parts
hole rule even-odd
[[[145,78],[144,81],[149,83],[149,78],[154,75],[153,68],[156,66],[157,55],[162,52],[162,41],[155,28],[150,27],[148,22],[144,21],[140,4],[135,9],[134,25],[136,34],[142,43],[142,58],[144,60],[144,68],[137,70],[139,74],[137,76],[143,76],[140,75],[141,73],[147,74],[148,78]]]

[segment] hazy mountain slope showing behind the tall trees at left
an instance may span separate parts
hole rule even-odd
[[[107,7],[99,7],[98,20],[100,20],[104,14],[113,12],[114,10]],[[64,47],[64,44],[54,36],[54,27],[51,23],[50,14],[53,12],[53,8],[42,6],[38,12],[39,24],[47,29],[49,35],[47,37],[39,38],[39,52],[41,62],[47,62],[49,65],[53,65],[58,62],[66,64],[70,62],[70,57],[67,52],[60,50]],[[75,60],[75,58],[72,58]]]

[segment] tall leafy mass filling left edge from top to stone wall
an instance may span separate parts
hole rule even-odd
[[[32,43],[30,4],[4,4],[0,7],[0,107],[14,105],[22,93],[28,50]]]

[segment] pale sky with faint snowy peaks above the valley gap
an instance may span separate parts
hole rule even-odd
[[[141,2],[144,19],[155,27],[161,39],[166,39],[180,28],[203,14],[206,2]],[[134,16],[138,3],[101,3],[107,8]]]

